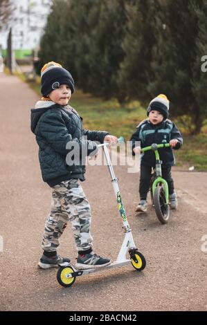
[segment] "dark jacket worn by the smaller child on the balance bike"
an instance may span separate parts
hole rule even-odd
[[[141,148],[152,145],[152,143],[168,143],[172,139],[177,139],[177,145],[174,149],[179,149],[183,144],[183,138],[179,129],[170,120],[164,120],[159,124],[152,124],[149,120],[141,122],[136,132],[132,135],[130,141],[132,141],[132,150],[138,144],[136,141],[141,142]],[[133,153],[134,154],[134,153]],[[172,148],[159,149],[159,156],[163,162],[163,167],[170,167],[175,164],[174,154]],[[154,151],[146,151],[141,155],[141,163],[143,165],[155,167],[155,155]]]

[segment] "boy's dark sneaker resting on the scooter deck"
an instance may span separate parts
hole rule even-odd
[[[89,268],[100,268],[102,266],[107,266],[111,263],[110,259],[105,259],[100,257],[93,252],[89,254],[78,254],[77,263],[75,268],[78,270],[85,270]]]

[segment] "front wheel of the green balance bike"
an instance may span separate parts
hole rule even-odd
[[[163,186],[158,185],[154,191],[154,210],[157,218],[162,224],[168,223],[170,217],[170,207],[165,200]]]

